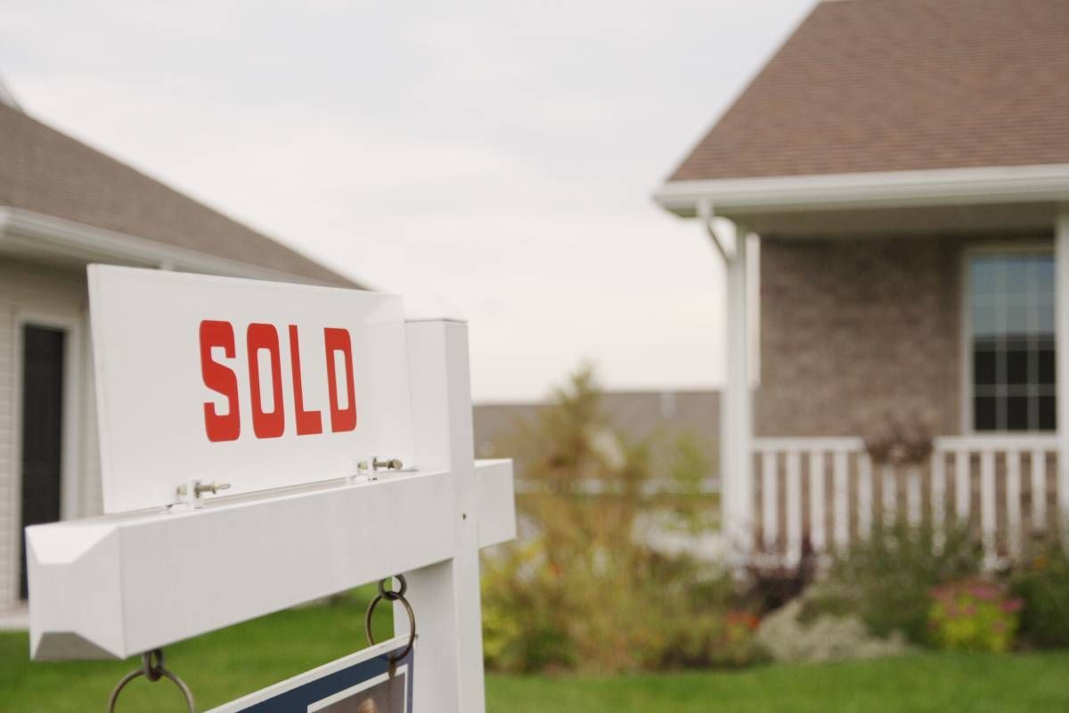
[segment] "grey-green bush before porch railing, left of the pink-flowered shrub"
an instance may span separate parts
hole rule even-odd
[[[876,528],[837,558],[808,598],[803,621],[856,614],[877,636],[901,632],[929,642],[931,591],[979,573],[982,548],[964,529],[948,529],[942,546],[929,527]]]

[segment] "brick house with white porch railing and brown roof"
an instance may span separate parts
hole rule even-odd
[[[1066,0],[821,2],[656,190],[726,262],[743,555],[904,513],[971,523],[995,563],[1065,522],[1067,48]],[[889,420],[934,452],[885,466]]]

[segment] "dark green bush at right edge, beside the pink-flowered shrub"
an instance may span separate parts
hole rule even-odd
[[[1069,558],[1052,543],[1010,580],[1021,599],[1021,636],[1039,648],[1069,647]]]

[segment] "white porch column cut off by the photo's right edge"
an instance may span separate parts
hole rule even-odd
[[[1069,205],[1058,206],[1054,226],[1058,522],[1065,534],[1069,531]]]

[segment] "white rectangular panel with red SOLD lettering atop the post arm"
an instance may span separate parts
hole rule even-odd
[[[104,265],[89,291],[105,512],[410,465],[401,297]]]

